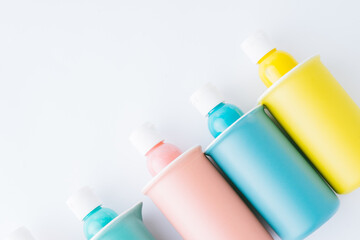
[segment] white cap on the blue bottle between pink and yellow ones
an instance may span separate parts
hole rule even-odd
[[[208,83],[194,92],[190,101],[202,115],[207,116],[214,107],[224,102],[224,97],[214,85]]]

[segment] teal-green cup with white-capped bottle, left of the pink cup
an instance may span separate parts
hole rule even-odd
[[[118,215],[102,207],[101,201],[84,187],[67,201],[70,209],[84,223],[86,239],[92,240],[155,240],[142,221],[142,203]]]

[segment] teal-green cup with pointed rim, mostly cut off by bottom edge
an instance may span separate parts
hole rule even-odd
[[[114,218],[92,240],[155,240],[142,221],[142,203]]]

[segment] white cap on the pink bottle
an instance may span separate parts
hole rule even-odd
[[[150,122],[146,122],[135,129],[129,139],[134,147],[144,156],[158,143],[165,140]]]

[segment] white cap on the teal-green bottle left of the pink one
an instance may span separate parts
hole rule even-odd
[[[81,188],[67,200],[67,205],[79,220],[83,220],[95,208],[102,205],[100,199],[89,187]]]

